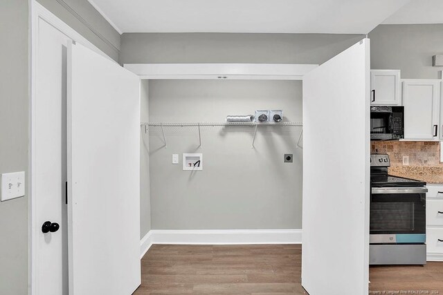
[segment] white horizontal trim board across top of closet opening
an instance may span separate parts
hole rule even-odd
[[[141,79],[301,80],[317,64],[124,64]]]

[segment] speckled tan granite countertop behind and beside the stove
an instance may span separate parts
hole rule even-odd
[[[388,173],[394,176],[422,180],[426,183],[443,183],[443,166],[391,166]]]

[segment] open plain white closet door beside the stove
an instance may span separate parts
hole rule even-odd
[[[303,78],[302,286],[368,294],[370,44]]]

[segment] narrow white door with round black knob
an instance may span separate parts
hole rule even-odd
[[[68,292],[66,183],[66,44],[71,39],[38,18],[32,102],[33,294]],[[42,232],[51,221],[55,232]]]

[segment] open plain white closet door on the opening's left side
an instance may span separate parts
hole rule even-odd
[[[140,86],[81,44],[68,50],[69,294],[141,283]]]

